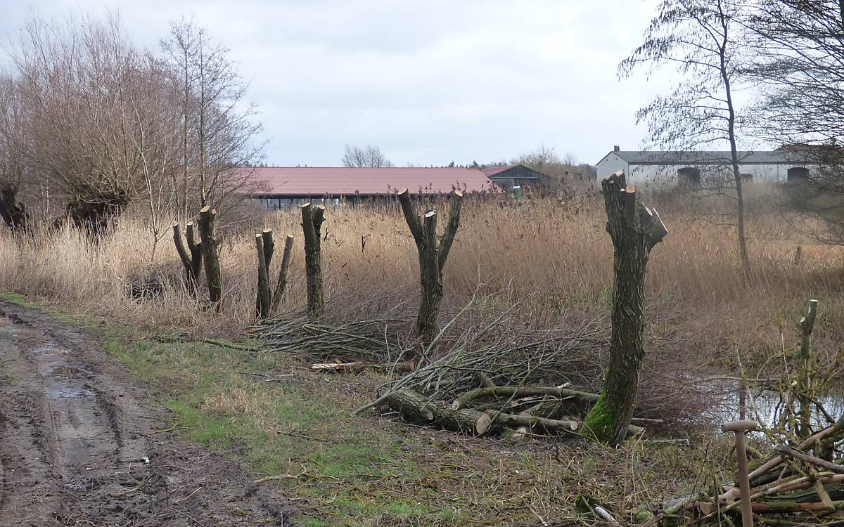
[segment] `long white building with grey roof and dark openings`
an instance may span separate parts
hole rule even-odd
[[[818,162],[799,152],[741,151],[738,166],[750,181],[786,182],[805,179]],[[701,181],[733,177],[733,161],[729,151],[658,152],[614,150],[598,161],[598,180],[624,170],[627,180],[637,184],[700,184]]]

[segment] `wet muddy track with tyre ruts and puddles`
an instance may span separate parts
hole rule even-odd
[[[0,302],[0,525],[284,525],[284,500],[160,432],[95,335]]]

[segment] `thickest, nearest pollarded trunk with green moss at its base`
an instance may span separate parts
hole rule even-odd
[[[610,175],[601,186],[614,246],[613,331],[603,391],[586,424],[599,441],[619,444],[633,417],[645,352],[647,258],[668,231],[656,210],[636,202],[636,188],[625,184],[624,172]]]

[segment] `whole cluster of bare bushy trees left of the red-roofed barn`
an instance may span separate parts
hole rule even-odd
[[[0,73],[0,215],[14,229],[67,218],[99,232],[130,204],[149,228],[249,184],[262,145],[228,51],[190,20],[156,51],[116,17],[33,16]]]

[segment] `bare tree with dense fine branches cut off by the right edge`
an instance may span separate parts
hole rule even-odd
[[[746,20],[758,58],[755,133],[811,168],[789,196],[819,239],[844,243],[844,0],[755,0]],[[775,126],[771,126],[775,123]],[[807,223],[801,222],[801,225]]]

